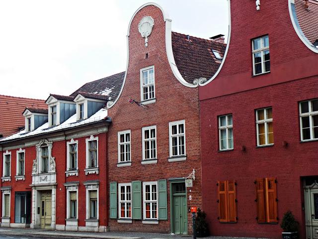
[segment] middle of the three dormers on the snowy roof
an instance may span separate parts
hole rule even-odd
[[[76,104],[72,96],[51,94],[45,103],[49,106],[49,126],[56,126],[76,113]]]

